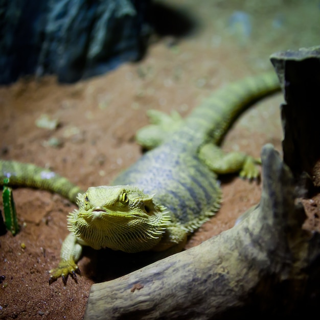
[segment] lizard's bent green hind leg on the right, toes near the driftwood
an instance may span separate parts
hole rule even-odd
[[[239,172],[240,177],[247,179],[256,179],[260,175],[257,167],[257,164],[261,164],[260,159],[242,152],[224,153],[213,143],[207,143],[200,148],[199,158],[217,174]]]

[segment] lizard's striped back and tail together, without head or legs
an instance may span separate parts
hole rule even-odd
[[[221,199],[217,175],[200,161],[199,148],[206,142],[219,144],[250,103],[278,89],[274,73],[222,87],[196,107],[163,145],[144,154],[112,184],[133,185],[155,194],[173,221],[195,230],[219,209]]]

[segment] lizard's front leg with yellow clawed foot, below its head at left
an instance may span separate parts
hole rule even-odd
[[[66,284],[68,275],[77,282],[76,273],[80,274],[77,262],[80,259],[82,252],[82,245],[79,243],[77,237],[72,233],[64,239],[60,252],[60,262],[58,266],[49,272],[51,273],[49,284],[55,282],[59,277],[62,278],[64,285]]]

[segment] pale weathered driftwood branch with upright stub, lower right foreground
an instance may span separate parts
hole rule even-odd
[[[279,59],[287,56],[274,56],[273,62]],[[282,70],[285,69],[284,63]],[[315,68],[309,72],[320,74]],[[285,74],[283,84],[287,81]],[[290,87],[288,83],[286,86]],[[294,108],[301,107],[290,106],[283,106],[283,116],[287,112],[287,119],[300,121],[293,115]],[[293,134],[294,123],[284,127],[290,128],[288,132],[285,129],[284,152],[287,149],[296,154],[292,136],[299,140],[299,134]],[[299,130],[304,127],[308,123],[300,124]],[[308,142],[311,148],[318,148],[318,135],[314,134]],[[298,150],[303,143],[299,141]],[[197,247],[116,280],[94,284],[84,319],[222,319],[293,312],[297,315],[304,307],[313,306],[314,299],[320,297],[320,237],[303,230],[306,216],[296,195],[297,190],[298,194],[305,190],[297,182],[299,174],[312,172],[310,164],[316,163],[316,159],[304,162],[308,170],[304,165],[297,167],[294,161],[289,163],[291,169],[299,169],[295,174],[271,145],[264,146],[262,196],[246,218]]]

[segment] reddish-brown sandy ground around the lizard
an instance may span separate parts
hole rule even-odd
[[[219,86],[271,68],[271,53],[317,44],[316,1],[269,1],[263,7],[252,1],[170,3],[192,17],[193,32],[155,38],[138,63],[73,85],[45,77],[1,87],[1,158],[49,167],[83,189],[108,185],[141,156],[133,137],[148,123],[148,109],[177,110],[185,116]],[[235,27],[230,20],[236,10],[249,14],[249,35],[247,26],[238,21]],[[282,101],[278,94],[246,111],[227,134],[223,149],[259,156],[261,147],[272,143],[281,152]],[[43,114],[58,120],[57,129],[35,125]],[[58,139],[57,147],[50,146],[52,138]],[[235,175],[221,180],[221,210],[186,248],[232,227],[259,201],[261,186],[255,182]],[[1,319],[80,319],[93,283],[134,268],[135,255],[88,249],[79,262],[78,284],[69,279],[63,286],[60,279],[49,286],[48,270],[57,265],[67,235],[66,215],[75,207],[58,195],[24,188],[14,190],[14,199],[21,230],[15,237],[0,237],[0,275],[6,277],[0,288]]]

